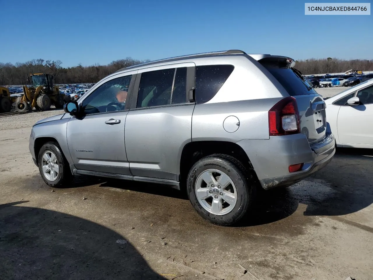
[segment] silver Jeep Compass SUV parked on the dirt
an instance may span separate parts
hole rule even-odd
[[[169,185],[232,225],[258,189],[290,186],[335,153],[323,98],[294,64],[229,50],[120,69],[34,125],[32,158],[51,187],[79,174]]]

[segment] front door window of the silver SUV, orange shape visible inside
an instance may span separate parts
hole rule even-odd
[[[96,88],[83,100],[84,113],[94,114],[124,110],[131,77],[132,75],[115,78]]]

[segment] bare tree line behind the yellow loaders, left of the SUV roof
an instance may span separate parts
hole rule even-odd
[[[25,63],[1,63],[0,62],[0,85],[23,85],[27,77],[35,73],[47,73],[54,75],[56,84],[80,84],[96,83],[102,78],[115,71],[148,62],[149,60],[137,60],[127,57],[114,60],[108,65],[91,65],[64,68],[60,60],[32,59]]]

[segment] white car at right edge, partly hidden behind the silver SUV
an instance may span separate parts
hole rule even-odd
[[[373,79],[324,100],[337,147],[373,149]]]

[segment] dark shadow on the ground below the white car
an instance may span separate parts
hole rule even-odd
[[[311,175],[311,190],[293,190],[299,202],[307,205],[304,215],[347,215],[371,205],[372,165],[372,149],[337,148],[332,162]]]

